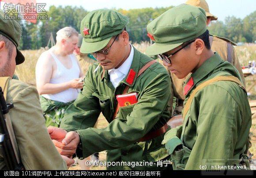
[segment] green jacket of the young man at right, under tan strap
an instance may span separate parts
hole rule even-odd
[[[216,76],[227,75],[233,75],[241,81],[237,70],[215,53],[191,75],[194,85],[184,102],[195,86]],[[213,82],[196,94],[191,108],[184,116],[183,126],[166,133],[163,143],[167,142],[168,152],[173,153],[172,160],[177,169],[204,169],[200,165],[206,165],[207,169],[218,169],[218,165],[239,165],[238,159],[247,149],[251,124],[251,111],[245,91],[235,82]],[[170,139],[175,135],[183,140],[181,150],[175,149],[179,140]]]

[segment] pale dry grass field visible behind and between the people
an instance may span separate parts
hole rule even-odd
[[[143,42],[141,44],[133,44],[139,51],[145,52],[147,46],[149,43]],[[238,59],[240,60],[241,66],[247,66],[249,60],[256,60],[256,45],[244,45],[244,46],[236,46],[236,52]],[[19,79],[23,82],[28,83],[29,85],[36,84],[35,82],[35,65],[37,62],[38,57],[41,55],[42,52],[44,52],[45,49],[41,48],[40,50],[25,50],[22,51],[23,55],[25,56],[26,60],[23,64],[18,65],[15,70],[15,74],[19,77]],[[254,76],[255,77],[255,76]],[[246,78],[246,85],[251,85],[251,77]],[[256,79],[256,77],[255,77]],[[250,95],[249,100],[256,100],[256,86],[253,86]],[[98,122],[96,123],[95,127],[97,128],[104,128],[107,126],[108,123],[104,119],[103,115],[100,115]],[[255,155],[253,158],[256,159],[256,118],[252,120],[252,128],[251,128],[251,140],[252,140],[252,148],[250,148],[250,151]],[[100,160],[105,161],[106,160],[106,152],[100,153]],[[70,167],[71,170],[78,170],[80,169],[79,166],[75,165]],[[104,170],[105,167],[91,167],[90,169],[100,169]]]

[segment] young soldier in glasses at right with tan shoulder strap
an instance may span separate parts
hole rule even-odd
[[[206,19],[202,8],[181,4],[147,25],[155,43],[146,54],[158,55],[177,78],[192,73],[184,85],[183,126],[169,130],[163,144],[174,169],[248,167],[246,91],[237,70],[211,50]]]

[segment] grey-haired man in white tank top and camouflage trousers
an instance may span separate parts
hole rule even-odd
[[[66,109],[83,87],[84,75],[73,54],[77,43],[75,29],[60,29],[56,45],[43,52],[36,64],[36,84],[46,126],[60,126]]]

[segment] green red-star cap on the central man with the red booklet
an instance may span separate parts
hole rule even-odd
[[[97,52],[104,48],[110,39],[121,33],[128,24],[128,18],[117,11],[99,9],[87,14],[80,26],[83,43],[82,53]]]

